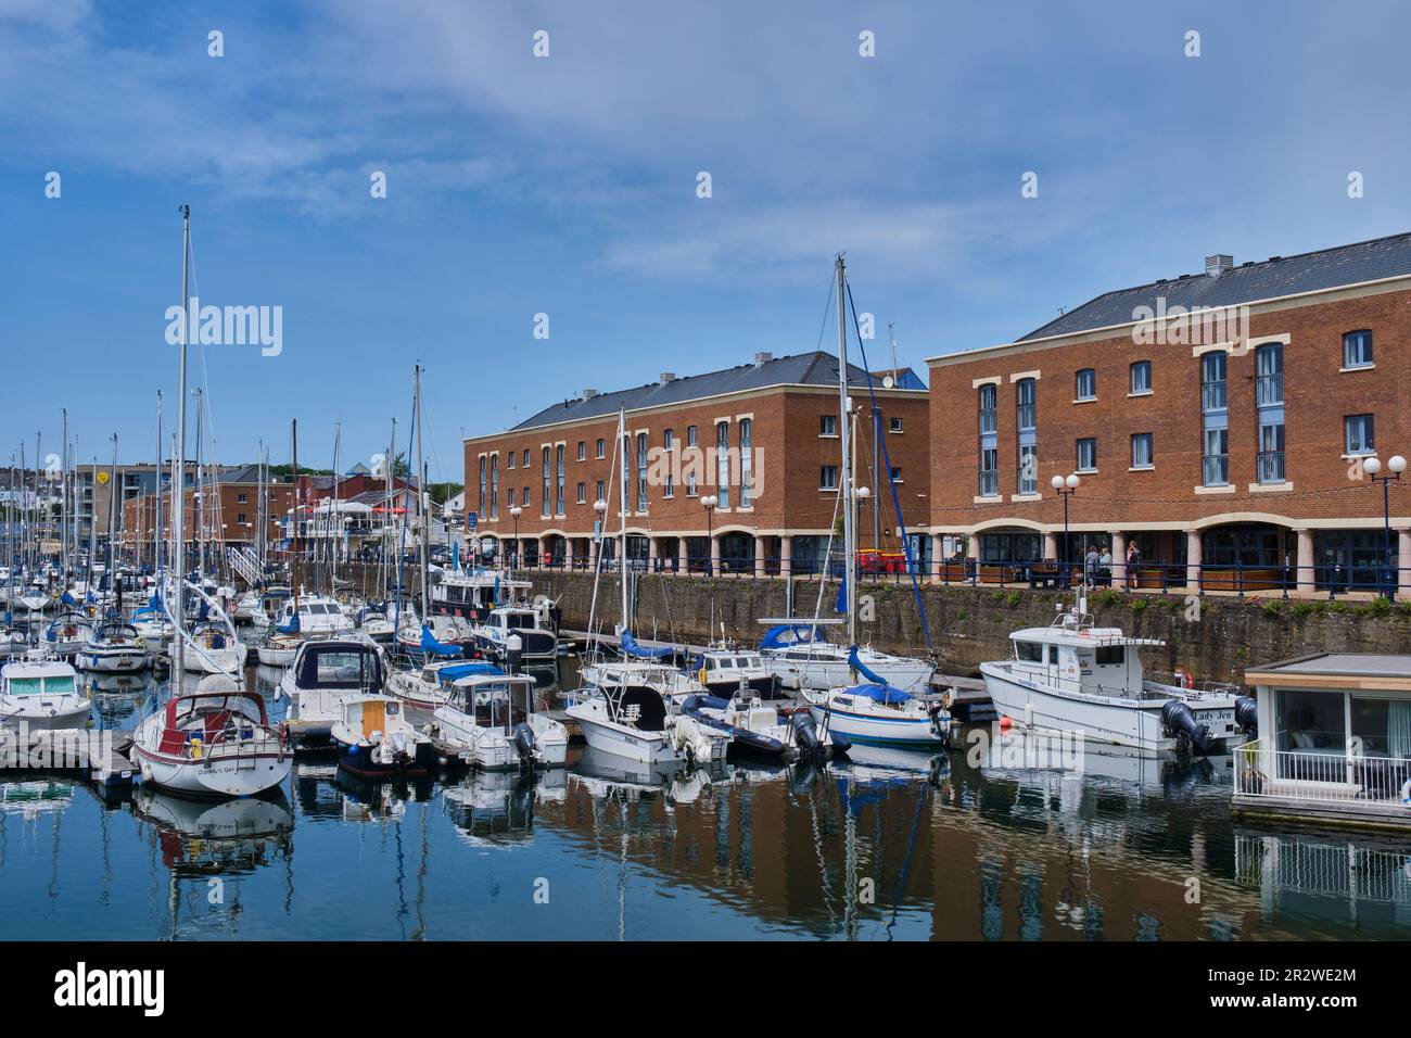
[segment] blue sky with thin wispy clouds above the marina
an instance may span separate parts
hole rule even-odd
[[[420,360],[454,479],[463,431],[584,386],[814,349],[840,249],[875,364],[895,322],[921,370],[1208,253],[1411,229],[1408,30],[1390,1],[0,0],[0,463],[65,405],[83,460],[114,429],[151,458],[186,199],[202,301],[284,308],[281,356],[192,354],[219,458],[285,460],[293,417],[302,463],[334,422],[367,458]]]

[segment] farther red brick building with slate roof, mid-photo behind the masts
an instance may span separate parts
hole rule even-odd
[[[864,548],[900,551],[883,445],[903,517],[927,520],[928,402],[924,387],[904,374],[890,386],[876,380],[873,432],[868,374],[849,369],[858,480],[873,489],[883,475],[880,511],[876,496],[859,508]],[[713,572],[755,575],[823,565],[841,520],[838,362],[827,353],[761,353],[722,371],[663,373],[629,390],[587,390],[512,429],[466,439],[466,511],[476,514],[483,548],[504,555],[518,538],[523,561],[593,565],[597,520],[615,538],[622,518],[619,408],[626,412],[628,555],[638,565],[703,572],[714,561]],[[604,513],[597,501],[608,504]],[[615,539],[602,544],[608,556],[615,554]]]

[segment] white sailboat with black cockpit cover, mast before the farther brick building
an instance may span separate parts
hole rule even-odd
[[[622,500],[626,500],[626,456],[622,442],[626,435],[626,412],[618,410],[618,431],[614,455],[619,465],[619,486]],[[604,501],[602,513],[611,506]],[[626,508],[621,510],[618,531],[618,558],[626,558]],[[602,552],[598,552],[598,569],[594,573],[594,596],[597,603],[597,580],[601,575]],[[628,630],[628,573],[619,573],[622,580],[622,638],[624,648],[635,644]],[[593,621],[590,619],[591,631]],[[591,637],[591,636],[590,636]],[[669,664],[652,662],[652,657],[665,657],[674,650],[639,648],[638,660],[624,658],[621,662],[597,661],[583,668],[584,686],[573,696],[567,715],[579,722],[588,746],[600,753],[626,757],[643,764],[662,764],[687,760],[707,763],[724,760],[729,747],[729,733],[714,729],[700,720],[676,713],[674,693],[682,696],[701,691],[701,686]]]

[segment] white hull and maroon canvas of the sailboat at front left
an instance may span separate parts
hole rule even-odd
[[[284,782],[293,764],[264,698],[219,674],[155,703],[137,726],[133,754],[143,781],[198,797],[253,797]]]

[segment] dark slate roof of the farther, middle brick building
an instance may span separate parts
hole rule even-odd
[[[873,381],[878,388],[882,388],[880,380]],[[555,422],[580,421],[583,418],[602,418],[617,414],[618,407],[626,407],[628,411],[638,411],[648,407],[660,407],[662,404],[683,404],[690,400],[717,397],[727,393],[762,390],[770,386],[837,384],[838,359],[835,356],[824,352],[797,353],[787,357],[775,357],[761,364],[738,364],[721,371],[673,378],[667,383],[649,383],[631,390],[600,393],[597,397],[564,400],[519,422],[514,426],[514,431],[533,429],[540,425],[553,425]],[[848,384],[856,384],[865,390],[868,384],[866,370],[849,363]]]

